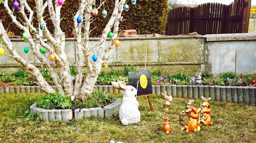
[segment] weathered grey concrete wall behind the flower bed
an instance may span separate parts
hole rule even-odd
[[[98,44],[97,38],[90,39],[90,47]],[[237,51],[237,73],[256,73],[256,35],[226,34],[206,36],[174,36],[174,37],[137,37],[120,38],[120,47],[110,52],[109,65],[123,69],[123,66],[134,65],[136,70],[144,69],[147,47],[147,69],[163,73],[207,71],[219,73],[234,71],[234,57]],[[30,63],[40,67],[39,61],[30,50],[24,53],[28,43],[12,40],[20,55]],[[109,41],[110,42],[110,41]],[[6,49],[6,48],[5,48]],[[67,39],[66,52],[70,63],[76,63],[74,39]],[[8,51],[6,50],[8,53]],[[97,52],[95,49],[93,52]],[[42,54],[49,56],[49,54]],[[13,72],[17,69],[16,61],[6,54],[0,56],[0,72]],[[110,68],[109,68],[110,69]],[[103,70],[106,70],[103,68]]]

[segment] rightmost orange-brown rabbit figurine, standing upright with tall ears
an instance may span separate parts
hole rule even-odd
[[[201,122],[206,125],[206,126],[211,126],[212,125],[212,121],[210,118],[210,103],[208,102],[211,98],[205,98],[202,96],[202,99],[204,100],[204,102],[202,103],[202,118],[201,118]]]

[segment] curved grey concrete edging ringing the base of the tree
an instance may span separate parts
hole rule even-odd
[[[71,109],[43,109],[38,108],[36,103],[30,106],[31,112],[36,112],[41,121],[54,121],[54,120],[62,120],[69,121],[73,118],[75,120],[88,118],[88,117],[99,117],[99,118],[110,118],[116,113],[119,112],[119,108],[122,102],[121,99],[115,98],[112,104],[106,105],[103,108],[82,108],[75,109],[73,117],[73,111]]]

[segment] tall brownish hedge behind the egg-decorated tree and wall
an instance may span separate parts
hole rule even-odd
[[[31,8],[35,9],[35,3],[33,0],[27,0]],[[96,1],[96,7],[99,6],[100,1]],[[12,8],[13,1],[9,1],[9,6]],[[120,23],[120,30],[128,30],[135,29],[138,34],[152,34],[159,33],[165,34],[166,31],[166,23],[168,16],[168,2],[167,0],[139,0],[136,5],[131,4],[131,0],[127,1],[130,9],[129,12],[123,11],[123,19]],[[66,33],[66,37],[74,37],[73,36],[73,15],[76,14],[79,6],[79,1],[66,0],[61,9],[61,29]],[[94,22],[91,23],[91,29],[95,28],[92,31],[90,37],[99,37],[102,34],[102,30],[108,22],[114,8],[114,0],[108,0],[105,2],[105,10],[108,11],[108,16],[103,18],[101,16],[101,12],[103,7],[99,9],[99,13],[97,17],[94,18]],[[46,9],[48,11],[48,8]],[[6,30],[10,35],[21,36],[22,30],[19,30],[16,25],[11,21],[10,16],[7,14],[3,4],[0,5],[0,19],[3,20],[3,24]],[[48,12],[47,12],[48,13]],[[22,19],[18,10],[14,10],[14,14],[16,17],[20,17]],[[36,14],[34,14],[36,17]],[[49,15],[45,19],[50,18]],[[19,18],[17,18],[20,22],[22,22]],[[24,21],[24,20],[23,20]],[[37,25],[36,19],[33,20],[34,25]],[[47,23],[51,24],[51,20],[47,20]],[[52,32],[54,30],[53,26],[48,26],[48,29]],[[10,33],[11,32],[11,33]]]

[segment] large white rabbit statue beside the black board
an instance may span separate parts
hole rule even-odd
[[[113,87],[122,90],[123,99],[119,110],[119,119],[122,125],[140,122],[139,102],[136,99],[137,90],[132,85],[125,85],[123,81],[111,82]]]

